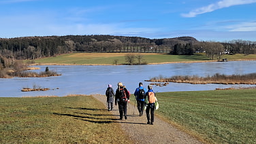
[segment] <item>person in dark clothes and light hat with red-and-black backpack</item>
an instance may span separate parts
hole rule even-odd
[[[130,92],[123,86],[121,82],[117,84],[118,88],[116,89],[116,96],[114,98],[114,103],[117,105],[120,114],[120,120],[123,120],[123,115],[125,115],[125,120],[127,120],[127,103],[130,102]]]

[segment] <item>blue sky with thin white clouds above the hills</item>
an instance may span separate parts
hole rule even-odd
[[[0,0],[0,37],[123,35],[256,41],[256,0]]]

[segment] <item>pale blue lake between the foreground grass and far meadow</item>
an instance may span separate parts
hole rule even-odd
[[[139,82],[144,87],[151,82],[144,82],[150,77],[171,77],[173,75],[208,76],[215,73],[233,75],[256,73],[256,61],[236,62],[198,62],[198,63],[172,63],[164,65],[111,65],[111,66],[83,66],[83,65],[39,65],[45,71],[57,71],[57,77],[14,77],[0,79],[0,97],[22,96],[67,96],[68,94],[105,94],[108,84],[114,90],[117,83],[122,82],[133,93]],[[238,88],[249,85],[223,85],[223,84],[180,84],[170,83],[167,86],[153,86],[155,92],[198,91],[215,90],[216,88]],[[21,92],[22,88],[50,88],[48,91]]]

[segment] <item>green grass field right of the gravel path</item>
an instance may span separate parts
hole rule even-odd
[[[208,143],[256,143],[255,93],[255,89],[157,93],[157,113]]]

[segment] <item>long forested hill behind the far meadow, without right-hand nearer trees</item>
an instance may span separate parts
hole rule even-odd
[[[16,37],[0,39],[0,54],[7,58],[35,59],[68,52],[170,52],[177,43],[196,42],[197,39],[193,37],[166,39],[114,35]]]

